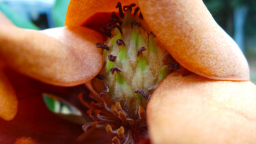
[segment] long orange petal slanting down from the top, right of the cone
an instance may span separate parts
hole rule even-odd
[[[222,80],[249,80],[248,63],[201,0],[138,0],[147,25],[184,68]]]

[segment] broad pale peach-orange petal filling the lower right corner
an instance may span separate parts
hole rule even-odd
[[[147,105],[153,143],[254,143],[256,87],[170,74]]]

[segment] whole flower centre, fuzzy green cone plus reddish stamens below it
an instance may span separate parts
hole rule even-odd
[[[96,101],[91,104],[79,96],[94,121],[83,126],[85,132],[104,128],[113,134],[113,143],[138,143],[147,138],[147,102],[165,76],[179,68],[155,40],[139,8],[132,14],[134,7],[122,8],[118,3],[119,14],[113,12],[112,22],[101,28],[107,40],[96,46],[104,49],[104,68],[93,80],[100,96],[91,94]]]

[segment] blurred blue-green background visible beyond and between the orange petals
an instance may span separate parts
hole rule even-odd
[[[70,0],[0,0],[0,10],[18,26],[27,29],[63,27]],[[256,0],[203,0],[216,22],[240,46],[256,84]],[[49,109],[72,113],[72,106],[44,96]]]

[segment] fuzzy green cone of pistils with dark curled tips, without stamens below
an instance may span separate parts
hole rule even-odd
[[[124,18],[115,18],[122,20],[122,25],[108,25],[112,37],[105,42],[109,51],[104,50],[104,83],[109,85],[112,100],[133,108],[137,104],[145,107],[152,91],[169,72],[164,63],[171,61],[164,62],[165,54],[158,48],[154,34],[147,35],[149,32],[143,27],[139,12],[132,16],[132,7],[125,10]],[[114,56],[116,59],[111,59]]]

